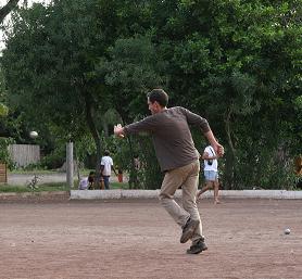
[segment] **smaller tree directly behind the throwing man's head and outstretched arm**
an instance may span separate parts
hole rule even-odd
[[[165,83],[164,76],[159,74],[161,67],[163,62],[148,36],[117,39],[109,49],[108,58],[100,61],[96,74],[103,77],[108,86],[117,89],[111,96],[111,102],[124,124],[138,119],[138,115],[142,116],[143,112],[147,113],[146,92]],[[158,187],[160,168],[150,140],[146,137],[127,137],[127,143],[123,151],[124,157],[128,157],[129,162],[123,167],[129,172],[130,187]],[[122,149],[119,154],[123,154]],[[140,177],[135,167],[135,156],[138,154],[144,166],[140,169]]]

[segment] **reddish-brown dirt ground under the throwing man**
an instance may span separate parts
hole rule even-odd
[[[199,208],[209,250],[187,255],[156,200],[1,201],[0,278],[302,278],[301,200]]]

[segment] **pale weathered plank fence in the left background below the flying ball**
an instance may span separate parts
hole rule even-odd
[[[9,145],[9,153],[17,167],[27,166],[40,161],[40,145],[11,144]]]

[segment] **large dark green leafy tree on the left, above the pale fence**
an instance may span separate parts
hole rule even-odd
[[[12,105],[32,122],[64,127],[61,137],[66,140],[90,129],[100,155],[93,121],[100,86],[89,77],[102,48],[96,4],[93,0],[55,1],[20,10],[8,30],[2,63]]]

